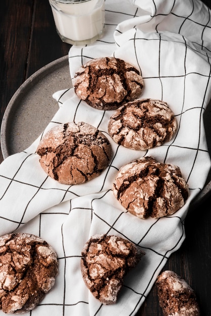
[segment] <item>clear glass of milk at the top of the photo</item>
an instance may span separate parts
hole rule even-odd
[[[102,36],[104,0],[49,0],[57,32],[72,45],[85,45]]]

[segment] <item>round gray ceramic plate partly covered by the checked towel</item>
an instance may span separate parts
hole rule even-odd
[[[71,88],[68,56],[62,57],[29,77],[10,100],[1,127],[1,147],[4,159],[23,151],[40,135],[58,111],[52,94]],[[204,127],[208,150],[211,152],[211,101],[204,113]],[[195,208],[211,193],[211,174],[206,185],[192,202]]]

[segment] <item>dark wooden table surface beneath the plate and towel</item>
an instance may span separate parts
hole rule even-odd
[[[211,1],[203,1],[211,8]],[[48,0],[1,2],[0,122],[20,85],[44,65],[68,54],[70,45],[59,38]],[[210,38],[211,40],[211,38]],[[0,153],[0,162],[3,161]],[[211,315],[211,196],[202,200],[185,221],[186,239],[164,270],[173,270],[195,290],[201,315]],[[156,288],[137,316],[159,316]],[[86,315],[85,315],[86,316]],[[112,315],[113,316],[113,315]]]

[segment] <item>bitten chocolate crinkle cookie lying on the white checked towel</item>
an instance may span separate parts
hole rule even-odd
[[[144,252],[118,236],[95,235],[82,250],[83,280],[103,304],[114,304],[123,286],[124,276],[134,268]]]

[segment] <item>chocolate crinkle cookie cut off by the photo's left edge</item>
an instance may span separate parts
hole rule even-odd
[[[25,233],[0,237],[0,308],[5,313],[33,309],[57,274],[57,254],[43,239]]]

